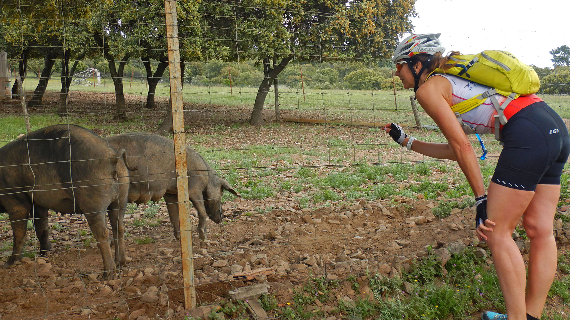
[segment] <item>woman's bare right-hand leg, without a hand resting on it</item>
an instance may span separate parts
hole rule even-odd
[[[523,216],[523,226],[531,241],[526,307],[528,314],[539,319],[556,274],[557,250],[552,221],[559,195],[559,184],[539,184]]]

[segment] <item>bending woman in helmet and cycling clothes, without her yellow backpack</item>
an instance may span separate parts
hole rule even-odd
[[[383,129],[409,150],[458,162],[477,200],[477,236],[491,249],[508,320],[539,319],[556,273],[552,221],[560,195],[560,176],[570,153],[568,131],[556,112],[535,95],[511,101],[504,113],[514,115],[500,129],[504,147],[486,195],[475,151],[450,106],[490,88],[453,75],[429,76],[435,68],[449,68],[447,59],[459,54],[454,51],[442,56],[445,48],[439,35],[409,36],[396,48],[393,62],[404,88],[415,89],[416,99],[448,143],[416,140],[396,124],[386,124]],[[505,100],[495,96],[499,102]],[[461,118],[477,133],[494,133],[495,114],[487,100],[461,114]],[[511,236],[521,216],[531,243],[528,277]],[[484,311],[481,318],[505,320],[507,315]]]

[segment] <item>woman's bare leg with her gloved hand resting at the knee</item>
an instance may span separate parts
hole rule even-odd
[[[526,270],[519,248],[512,239],[512,232],[534,193],[500,186],[494,182],[488,188],[487,216],[496,225],[492,232],[486,232],[485,235],[509,320],[526,320]]]

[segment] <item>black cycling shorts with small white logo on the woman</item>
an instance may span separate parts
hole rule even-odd
[[[503,151],[491,181],[519,190],[536,184],[560,184],[570,154],[564,121],[545,102],[534,102],[515,113],[501,129]]]

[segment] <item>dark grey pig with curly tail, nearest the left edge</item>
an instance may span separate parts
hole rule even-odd
[[[103,257],[103,276],[126,262],[123,215],[129,187],[126,151],[116,151],[91,130],[76,125],[52,125],[35,130],[0,148],[0,211],[10,216],[14,231],[8,268],[22,259],[28,218],[40,241],[40,253],[50,248],[47,210],[84,214]],[[108,211],[115,244],[115,261],[105,221]]]

